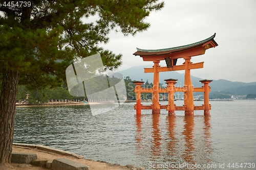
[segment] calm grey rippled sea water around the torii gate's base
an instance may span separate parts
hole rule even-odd
[[[16,108],[14,142],[146,169],[256,169],[256,100],[210,104],[210,116],[137,116],[134,103],[96,116],[87,105]]]

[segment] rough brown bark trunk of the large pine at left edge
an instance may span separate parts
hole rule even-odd
[[[0,164],[11,163],[18,71],[3,68],[0,93]]]

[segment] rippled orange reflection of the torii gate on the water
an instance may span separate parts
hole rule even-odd
[[[148,127],[151,120],[152,126]],[[200,128],[195,129],[195,122]],[[187,164],[212,161],[210,116],[136,114],[135,123],[139,161],[145,161],[145,155],[154,162],[163,161],[162,158],[164,162],[181,162],[183,159]]]

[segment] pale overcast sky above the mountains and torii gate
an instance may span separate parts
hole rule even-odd
[[[136,47],[160,49],[186,45],[216,33],[215,48],[191,62],[204,61],[204,68],[191,70],[202,79],[256,82],[256,1],[255,0],[166,0],[161,11],[152,12],[146,21],[151,27],[136,36],[112,33],[105,46],[123,54],[124,70],[132,66],[153,65],[134,56]],[[180,61],[179,61],[180,60]],[[179,59],[177,64],[182,64]],[[166,66],[165,62],[160,63]],[[118,70],[115,70],[118,71]],[[184,72],[184,71],[180,71]]]

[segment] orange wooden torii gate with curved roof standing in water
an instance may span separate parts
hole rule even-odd
[[[154,72],[153,87],[151,89],[143,89],[140,85],[143,84],[141,81],[134,81],[136,94],[136,113],[140,114],[141,109],[152,109],[152,113],[160,113],[160,109],[168,110],[168,114],[174,114],[175,110],[184,110],[185,115],[194,115],[194,110],[204,110],[204,115],[209,114],[211,106],[209,105],[209,91],[210,87],[208,84],[211,80],[202,80],[204,84],[202,87],[193,87],[190,78],[190,69],[203,68],[204,62],[192,63],[191,57],[203,55],[205,51],[211,47],[216,47],[218,44],[214,40],[216,33],[207,39],[199,42],[195,42],[188,45],[164,48],[160,50],[143,50],[137,48],[137,52],[133,55],[142,57],[143,61],[153,61],[154,66],[152,68],[144,68],[144,72]],[[176,65],[177,60],[183,58],[185,62],[182,65]],[[159,62],[165,60],[165,67],[161,67]],[[160,89],[159,87],[159,72],[162,71],[177,71],[185,70],[184,87],[175,87],[177,80],[167,79],[166,89]],[[152,92],[152,105],[143,106],[140,103],[141,92]],[[161,106],[159,104],[159,92],[168,92],[168,105]],[[176,106],[174,104],[174,92],[184,92],[184,105]],[[204,104],[202,106],[194,106],[193,92],[204,92]]]

